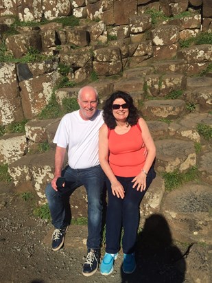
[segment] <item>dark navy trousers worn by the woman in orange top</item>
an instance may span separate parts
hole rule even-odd
[[[148,172],[147,188],[145,191],[137,191],[132,188],[134,177],[117,177],[125,190],[123,199],[114,196],[111,184],[106,179],[108,191],[108,207],[106,212],[106,252],[117,253],[120,249],[121,228],[123,226],[122,249],[123,253],[133,253],[137,240],[137,229],[139,227],[139,206],[148,190],[152,180],[156,176],[152,167]]]

